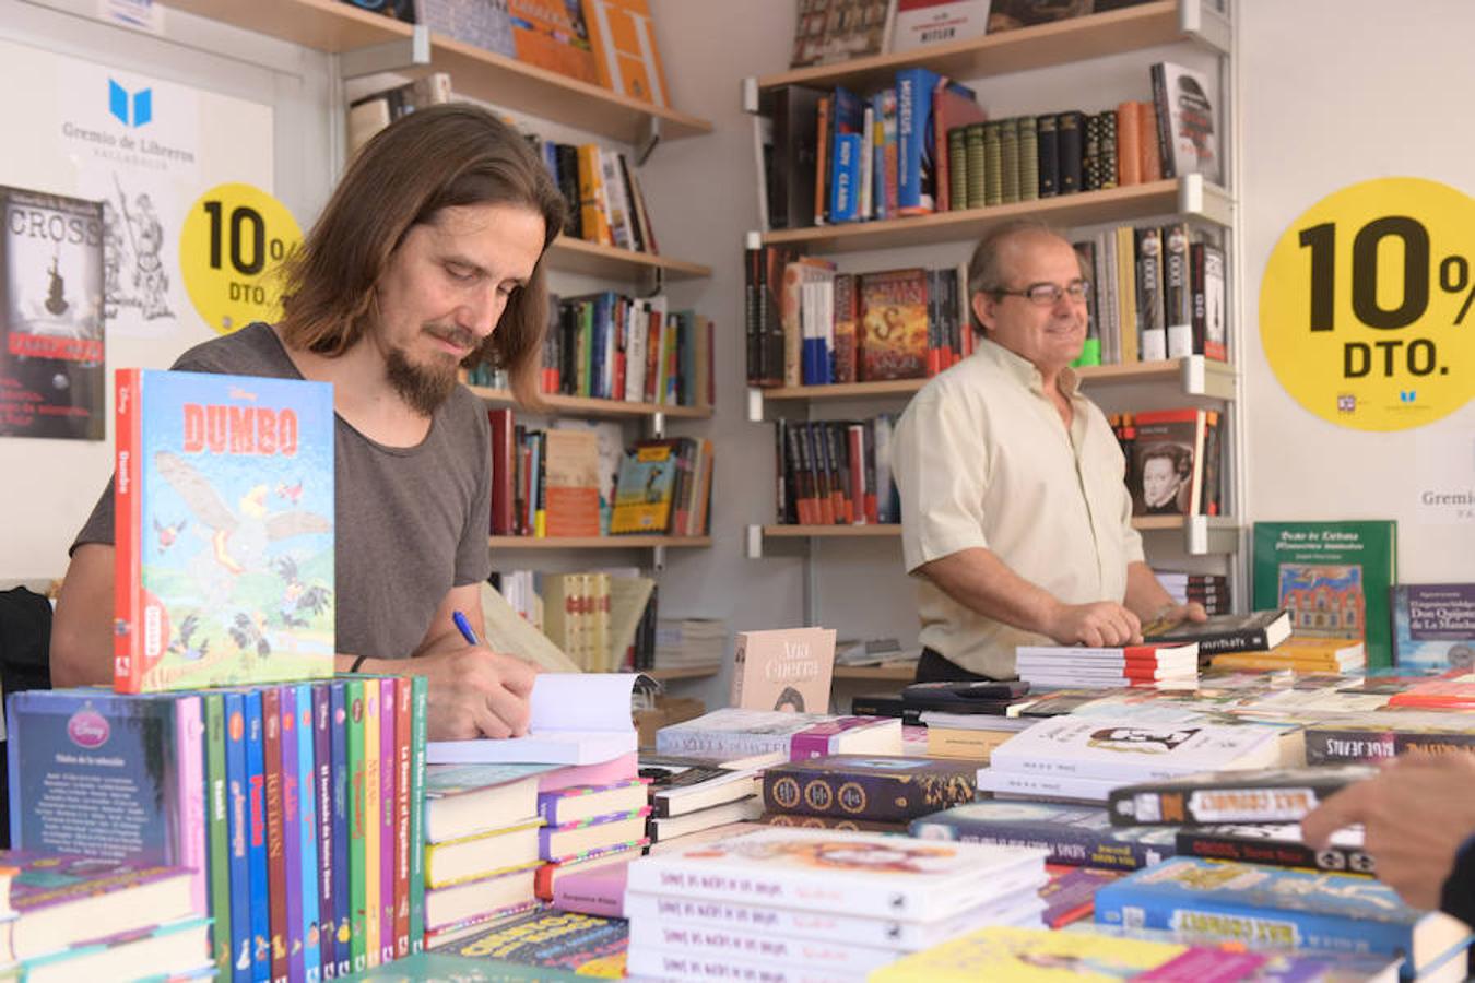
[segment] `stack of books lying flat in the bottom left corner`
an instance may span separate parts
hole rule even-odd
[[[212,976],[209,918],[192,881],[183,867],[0,852],[0,971],[27,980]]]

